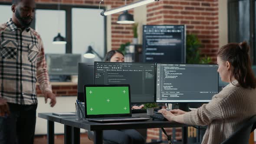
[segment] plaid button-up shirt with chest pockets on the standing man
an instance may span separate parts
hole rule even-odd
[[[10,19],[0,24],[0,97],[19,105],[37,104],[36,82],[52,92],[42,39],[32,28],[23,31]]]

